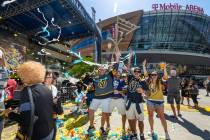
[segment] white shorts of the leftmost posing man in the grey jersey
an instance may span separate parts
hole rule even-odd
[[[93,99],[90,104],[90,109],[96,111],[101,106],[102,112],[110,113],[110,98]]]

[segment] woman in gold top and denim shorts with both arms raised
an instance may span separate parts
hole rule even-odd
[[[144,60],[143,62],[143,70],[144,70],[144,75],[148,77],[148,73],[146,69],[146,60]],[[167,129],[167,122],[164,116],[164,96],[163,96],[163,89],[162,89],[162,83],[165,82],[168,78],[166,65],[163,71],[164,71],[164,74],[163,74],[162,79],[159,78],[157,71],[153,71],[150,75],[150,78],[148,78],[147,80],[147,84],[149,86],[149,90],[146,93],[148,120],[150,124],[152,139],[155,139],[157,137],[157,135],[154,133],[154,118],[153,118],[154,112],[156,112],[164,128],[165,139],[170,140],[168,129]]]

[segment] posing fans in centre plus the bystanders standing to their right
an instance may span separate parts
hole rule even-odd
[[[119,66],[119,65],[118,65]],[[125,133],[125,123],[128,120],[130,139],[137,139],[136,123],[138,122],[139,136],[144,140],[144,109],[143,104],[146,102],[148,110],[148,120],[151,129],[151,136],[156,137],[154,132],[154,112],[160,118],[163,129],[165,131],[165,138],[170,139],[167,122],[164,115],[164,90],[167,90],[167,103],[170,104],[173,115],[172,118],[178,119],[182,117],[180,112],[180,104],[184,103],[184,98],[187,98],[190,106],[190,98],[194,106],[198,108],[197,96],[199,95],[199,88],[193,78],[189,82],[185,78],[177,76],[176,70],[170,70],[168,76],[166,64],[161,68],[163,76],[157,71],[147,72],[146,60],[142,64],[143,72],[140,68],[134,68],[133,71],[124,71],[115,66],[112,69],[106,70],[103,67],[98,69],[98,76],[91,78],[92,96],[87,98],[89,107],[90,126],[88,131],[95,130],[94,127],[94,113],[99,107],[102,108],[101,127],[100,131],[103,135],[111,129],[110,117],[113,108],[117,108],[119,114],[122,116],[122,129]],[[128,69],[126,69],[128,70]],[[205,82],[205,87],[208,96],[208,83]],[[86,86],[88,83],[86,83]],[[94,85],[94,86],[93,86]],[[181,91],[181,92],[180,92]],[[176,103],[176,108],[175,104]],[[106,124],[106,129],[105,129]]]

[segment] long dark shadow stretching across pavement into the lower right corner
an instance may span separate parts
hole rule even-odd
[[[180,121],[178,119],[171,118],[170,116],[165,114],[165,118],[168,121],[171,121],[173,123],[178,123],[182,127],[186,128],[191,134],[197,135],[197,136],[201,137],[203,140],[210,140],[210,131],[208,131],[208,130],[204,130],[204,131],[201,130],[196,125],[194,125],[192,122],[186,120],[183,117],[181,117],[182,121]]]

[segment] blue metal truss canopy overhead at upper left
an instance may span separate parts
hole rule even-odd
[[[0,4],[4,1],[0,0]],[[39,41],[41,37],[36,36],[36,33],[42,31],[46,21],[38,8],[49,23],[48,40],[59,34],[58,27],[51,24],[51,19],[54,18],[54,24],[61,27],[61,40],[94,35],[100,51],[100,30],[79,0],[16,0],[4,7],[0,6],[0,27],[24,33],[30,39]]]

